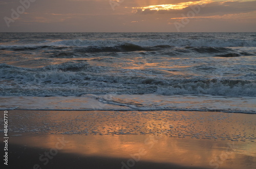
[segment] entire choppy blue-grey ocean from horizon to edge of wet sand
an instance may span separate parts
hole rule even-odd
[[[256,33],[0,33],[0,108],[256,113]]]

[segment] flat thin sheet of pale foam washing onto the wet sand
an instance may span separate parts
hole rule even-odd
[[[255,98],[212,95],[86,94],[76,96],[3,96],[0,109],[79,111],[219,111],[256,114]]]

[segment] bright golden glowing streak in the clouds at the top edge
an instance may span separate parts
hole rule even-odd
[[[144,10],[180,10],[184,9],[186,7],[189,7],[191,5],[202,5],[202,4],[208,4],[211,3],[211,0],[203,0],[203,1],[196,1],[196,2],[185,2],[185,3],[178,3],[178,4],[163,4],[163,5],[151,5],[146,7],[135,7],[133,9],[141,9]]]

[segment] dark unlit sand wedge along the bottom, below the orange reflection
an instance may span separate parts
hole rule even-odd
[[[1,144],[2,146],[2,144]],[[49,159],[49,162],[44,165],[44,162],[40,161],[38,157],[44,152],[49,152],[49,149],[41,148],[25,148],[20,145],[11,144],[12,152],[10,155],[10,161],[8,168],[187,168],[196,169],[201,167],[186,167],[179,166],[172,163],[157,163],[150,161],[138,161],[132,166],[122,165],[121,162],[127,162],[130,159],[125,158],[113,158],[113,157],[101,157],[101,156],[82,156],[75,153],[63,153],[58,152],[56,156]],[[42,158],[45,159],[46,157]],[[203,169],[203,168],[202,168]]]

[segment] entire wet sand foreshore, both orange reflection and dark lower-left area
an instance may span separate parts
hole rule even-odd
[[[253,114],[15,110],[9,117],[7,168],[256,166]]]

